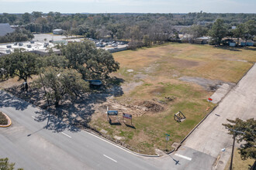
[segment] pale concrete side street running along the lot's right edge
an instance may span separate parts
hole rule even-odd
[[[185,141],[186,148],[192,148],[213,158],[220,156],[214,168],[223,169],[230,158],[232,136],[222,124],[227,119],[239,117],[243,120],[256,118],[256,65],[244,76],[237,86],[220,102],[216,110]],[[227,148],[225,152],[222,148]],[[214,163],[214,162],[213,162]],[[214,166],[214,165],[213,165]]]

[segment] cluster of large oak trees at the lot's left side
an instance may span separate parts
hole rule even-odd
[[[112,54],[104,49],[97,49],[93,42],[71,42],[61,46],[63,56],[51,53],[50,56],[38,56],[21,49],[0,58],[0,80],[18,76],[24,81],[24,90],[28,91],[28,79],[33,86],[44,89],[44,95],[50,103],[58,107],[65,95],[73,98],[89,92],[88,81],[107,80],[109,73],[119,69]]]

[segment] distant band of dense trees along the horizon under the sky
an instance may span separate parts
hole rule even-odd
[[[198,22],[209,22],[200,26],[202,34],[210,29],[210,22],[222,19],[228,28],[239,26],[255,14],[217,14],[190,12],[188,14],[61,14],[60,12],[32,12],[0,15],[1,22],[24,26],[30,32],[52,32],[64,29],[65,35],[80,35],[92,39],[109,36],[112,39],[136,39],[137,42],[154,43],[177,38],[178,30],[173,26],[196,26]],[[195,29],[195,28],[194,28]],[[138,35],[140,34],[140,35]],[[195,36],[195,35],[194,35]],[[149,41],[149,42],[148,42]]]

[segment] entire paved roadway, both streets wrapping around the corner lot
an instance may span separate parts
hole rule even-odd
[[[223,169],[230,158],[232,136],[223,123],[256,117],[256,65],[230,90],[216,110],[177,152],[142,158],[102,139],[67,126],[47,113],[0,91],[0,110],[11,117],[0,129],[0,157],[25,169]],[[226,151],[221,151],[225,148]],[[218,162],[216,159],[220,156]]]

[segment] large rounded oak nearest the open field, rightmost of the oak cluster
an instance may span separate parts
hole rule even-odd
[[[105,49],[97,49],[91,41],[71,42],[62,47],[69,68],[78,70],[84,79],[105,79],[119,69],[119,63]]]

